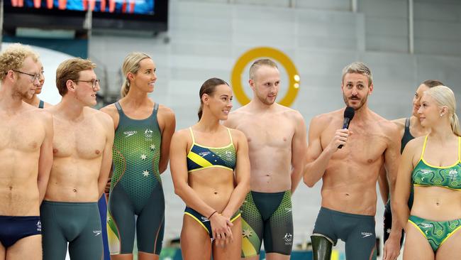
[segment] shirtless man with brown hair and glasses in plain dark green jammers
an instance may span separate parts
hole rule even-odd
[[[40,207],[43,256],[101,259],[103,245],[98,200],[112,163],[113,121],[96,109],[99,80],[94,63],[65,60],[56,70],[62,100],[48,110],[55,120],[54,161],[45,200]]]

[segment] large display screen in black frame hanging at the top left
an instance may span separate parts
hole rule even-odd
[[[4,28],[167,31],[167,0],[4,0]]]

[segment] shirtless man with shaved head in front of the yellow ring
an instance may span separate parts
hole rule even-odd
[[[280,73],[268,59],[250,67],[253,98],[230,113],[225,125],[243,131],[251,165],[250,193],[242,210],[242,258],[289,259],[293,243],[291,194],[301,180],[306,125],[299,112],[275,102]]]

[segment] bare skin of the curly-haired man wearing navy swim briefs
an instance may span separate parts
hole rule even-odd
[[[37,61],[27,57],[18,69],[36,75]],[[22,102],[39,80],[8,70],[0,87],[0,215],[38,216],[52,164],[52,116]],[[30,131],[33,129],[33,131]],[[0,244],[0,259],[41,259],[41,235],[19,239],[11,247]]]

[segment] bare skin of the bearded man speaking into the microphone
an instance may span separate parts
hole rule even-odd
[[[322,207],[374,216],[379,169],[384,165],[391,178],[396,176],[399,131],[367,107],[373,85],[369,85],[366,75],[347,73],[341,89],[345,104],[355,109],[355,116],[349,129],[341,129],[344,109],[312,119],[304,183],[313,187],[323,180]],[[343,148],[338,149],[340,145]],[[392,229],[390,242],[384,247],[384,259],[396,259],[399,255],[400,230]]]

